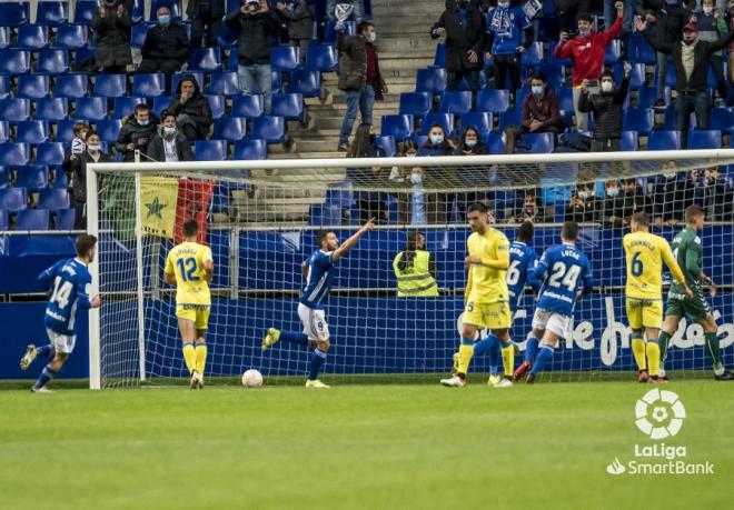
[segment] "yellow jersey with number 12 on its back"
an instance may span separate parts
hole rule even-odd
[[[204,264],[211,249],[198,242],[182,242],[168,252],[166,272],[176,274],[177,304],[211,304]]]

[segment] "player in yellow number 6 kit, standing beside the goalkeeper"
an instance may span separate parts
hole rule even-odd
[[[663,262],[673,278],[685,286],[688,297],[693,292],[671,247],[665,239],[649,233],[649,217],[635,212],[629,221],[632,233],[624,237],[627,259],[625,286],[627,320],[632,328],[632,352],[639,370],[639,382],[659,382],[659,346],[657,336],[663,323]]]

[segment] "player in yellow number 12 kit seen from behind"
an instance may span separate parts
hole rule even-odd
[[[209,282],[214,276],[211,249],[199,244],[196,220],[184,223],[184,242],[168,252],[163,274],[166,283],[176,286],[176,317],[194,390],[204,388],[204,368],[207,364],[205,336],[211,308]]]

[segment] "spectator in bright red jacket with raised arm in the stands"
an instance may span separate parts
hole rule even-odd
[[[582,83],[589,80],[589,92],[596,93],[598,80],[604,70],[604,52],[606,47],[622,32],[622,2],[616,2],[617,19],[607,30],[595,33],[592,31],[594,20],[588,14],[577,18],[578,34],[569,39],[567,32],[561,32],[561,42],[556,46],[555,56],[558,59],[569,58],[573,64],[572,82],[574,86],[574,111],[576,112],[576,130],[588,131],[588,113],[578,111],[578,97]]]

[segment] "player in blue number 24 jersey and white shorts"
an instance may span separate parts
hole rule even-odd
[[[535,273],[538,280],[545,280],[533,317],[533,330],[542,331],[543,337],[539,352],[527,376],[528,384],[535,382],[537,374],[553,357],[558,339],[566,334],[576,300],[589,293],[594,286],[588,259],[576,247],[577,238],[578,224],[566,221],[561,228],[562,244],[545,250],[536,264]],[[581,290],[579,281],[583,281]],[[522,376],[523,373],[519,373],[518,379]]]

